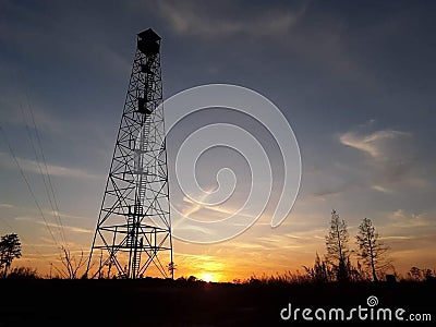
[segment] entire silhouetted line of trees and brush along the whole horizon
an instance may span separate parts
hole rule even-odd
[[[396,281],[434,280],[436,271],[428,268],[411,267],[405,277],[399,276],[389,256],[389,247],[379,238],[372,220],[364,218],[358,233],[350,240],[347,222],[340,219],[336,210],[331,211],[328,233],[325,235],[326,252],[320,257],[315,254],[313,266],[302,266],[303,271],[287,271],[275,276],[252,276],[245,280],[234,279],[233,283],[302,283],[302,282],[351,282],[351,281]],[[355,245],[353,249],[351,244]],[[57,278],[78,279],[78,270],[86,264],[84,253],[75,258],[62,247],[61,263],[63,269],[50,266],[50,276],[41,277],[36,269],[29,267],[11,268],[14,258],[22,256],[21,242],[15,233],[1,237],[0,240],[0,278]],[[55,276],[51,276],[55,268]],[[390,274],[387,274],[390,272]],[[99,278],[105,278],[100,276]],[[109,276],[108,276],[109,278]],[[183,282],[204,282],[195,276],[179,277]]]

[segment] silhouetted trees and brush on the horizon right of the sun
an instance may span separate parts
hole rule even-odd
[[[389,247],[380,241],[372,220],[364,218],[354,237],[354,249],[350,246],[347,222],[336,210],[331,211],[330,228],[325,237],[324,257],[315,255],[313,266],[303,266],[304,271],[287,271],[272,276],[252,276],[237,283],[303,283],[303,282],[351,282],[351,281],[424,281],[436,278],[436,271],[412,267],[405,277],[399,276],[389,256]],[[391,272],[391,274],[387,274]]]

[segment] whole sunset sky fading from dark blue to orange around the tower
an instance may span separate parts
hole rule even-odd
[[[279,227],[270,227],[277,182],[244,233],[217,244],[177,240],[175,277],[302,271],[325,253],[332,209],[348,222],[352,249],[367,217],[398,272],[435,269],[435,10],[434,1],[0,0],[0,234],[21,238],[14,264],[48,274],[50,263],[61,267],[60,244],[76,255],[89,251],[136,34],[152,27],[162,38],[165,98],[210,83],[253,89],[281,110],[302,161],[298,198]],[[229,112],[192,117],[179,135],[218,117],[270,143]],[[38,167],[37,136],[61,223]],[[266,148],[276,156],[274,145]],[[168,150],[171,159],[177,146]],[[198,161],[202,186],[214,189],[219,169],[233,166],[243,193],[246,162],[220,150]],[[194,219],[221,219],[244,198],[237,192],[219,208],[202,207],[170,181],[173,205]]]

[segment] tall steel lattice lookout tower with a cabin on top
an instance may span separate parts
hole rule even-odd
[[[93,277],[157,274],[173,278],[160,37],[137,34],[136,52],[112,162],[94,234]],[[167,258],[164,261],[164,255]],[[104,267],[107,268],[104,268]]]

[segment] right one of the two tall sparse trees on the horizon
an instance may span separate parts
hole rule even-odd
[[[375,231],[371,219],[364,218],[359,226],[356,243],[359,245],[358,256],[371,271],[374,281],[378,281],[377,272],[385,271],[391,267],[391,261],[387,257],[388,246],[383,244]]]

